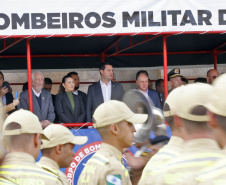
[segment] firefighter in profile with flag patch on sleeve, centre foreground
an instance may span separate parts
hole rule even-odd
[[[93,123],[102,138],[101,148],[89,159],[78,185],[130,185],[129,173],[122,163],[123,148],[132,146],[134,124],[144,123],[147,114],[134,114],[126,104],[106,101],[94,112]]]

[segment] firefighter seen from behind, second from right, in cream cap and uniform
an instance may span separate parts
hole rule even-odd
[[[212,87],[196,83],[178,88],[183,88],[183,96],[177,99],[174,123],[181,129],[184,149],[166,165],[150,170],[143,185],[185,184],[197,171],[225,157],[207,123],[209,116],[205,105]]]

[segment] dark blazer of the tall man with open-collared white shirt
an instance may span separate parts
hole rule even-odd
[[[111,82],[111,100],[122,100],[124,90],[121,84]],[[89,86],[86,103],[86,121],[92,122],[92,116],[96,108],[104,103],[100,81]]]

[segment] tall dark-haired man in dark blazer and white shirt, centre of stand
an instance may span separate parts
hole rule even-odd
[[[107,100],[121,100],[124,90],[121,84],[112,82],[113,67],[110,63],[102,63],[99,68],[101,79],[88,88],[86,104],[86,121],[92,122],[96,108]]]

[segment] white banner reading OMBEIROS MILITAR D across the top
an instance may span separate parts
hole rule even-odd
[[[5,0],[0,8],[0,35],[224,30],[224,0]]]

